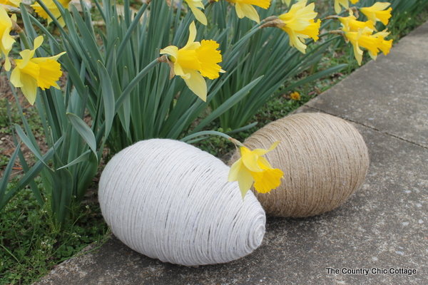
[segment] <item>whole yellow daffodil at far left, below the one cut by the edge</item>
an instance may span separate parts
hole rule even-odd
[[[26,49],[19,54],[22,59],[15,59],[16,68],[11,73],[11,83],[15,87],[21,88],[31,105],[36,100],[37,87],[45,90],[51,86],[59,89],[56,81],[61,77],[61,65],[58,58],[65,52],[56,56],[33,58],[34,52],[43,43],[43,36],[34,39],[34,49]]]

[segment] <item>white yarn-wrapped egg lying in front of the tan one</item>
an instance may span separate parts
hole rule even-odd
[[[186,266],[233,261],[265,234],[252,192],[243,201],[229,167],[176,140],[137,142],[118,152],[99,183],[101,211],[113,234],[136,252]]]

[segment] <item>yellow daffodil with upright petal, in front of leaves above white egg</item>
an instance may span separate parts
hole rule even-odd
[[[216,41],[195,41],[195,22],[189,26],[190,35],[183,48],[167,46],[161,49],[161,54],[168,55],[168,61],[175,76],[181,76],[188,88],[199,98],[206,101],[207,84],[203,76],[210,79],[218,78],[220,72],[225,72],[217,64],[221,62],[221,54]]]

